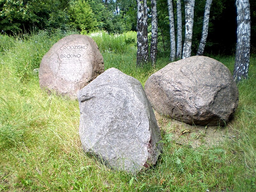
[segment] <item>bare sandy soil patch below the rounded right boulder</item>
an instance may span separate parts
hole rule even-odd
[[[164,134],[169,134],[173,142],[179,145],[189,145],[193,148],[201,145],[220,145],[225,140],[234,140],[235,132],[230,124],[221,126],[189,125],[180,121],[162,116],[155,111],[157,124]]]

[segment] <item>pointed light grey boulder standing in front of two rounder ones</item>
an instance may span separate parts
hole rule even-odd
[[[140,82],[110,68],[77,93],[85,152],[132,173],[155,164],[162,150],[156,117]]]

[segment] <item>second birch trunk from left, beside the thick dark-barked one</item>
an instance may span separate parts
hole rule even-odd
[[[157,52],[157,11],[156,0],[151,0],[151,44],[150,44],[150,61],[152,66],[156,64],[156,52]]]

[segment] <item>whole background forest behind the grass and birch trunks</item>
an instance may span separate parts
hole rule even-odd
[[[202,36],[204,6],[205,0],[196,0],[192,55],[196,54]],[[255,6],[256,1],[251,0],[251,53],[256,52]],[[182,7],[184,7],[183,1]],[[150,9],[149,1],[148,32],[151,30]],[[158,55],[167,56],[170,49],[167,1],[158,0],[157,10]],[[174,17],[176,15],[174,5]],[[182,17],[184,18],[184,8]],[[182,19],[182,22],[184,20]],[[130,30],[136,31],[136,22],[137,4],[135,0],[0,0],[1,34],[30,33],[40,29],[57,28],[63,31],[78,30],[81,34],[98,30],[122,34]],[[184,26],[184,23],[182,24]],[[236,48],[236,25],[235,0],[213,0],[205,54],[233,55]]]

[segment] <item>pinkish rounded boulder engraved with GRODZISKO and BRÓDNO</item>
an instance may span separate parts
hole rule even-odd
[[[60,39],[44,55],[39,68],[42,89],[75,99],[78,90],[104,71],[97,44],[85,35]]]

